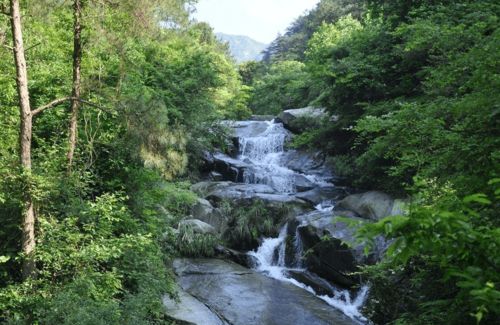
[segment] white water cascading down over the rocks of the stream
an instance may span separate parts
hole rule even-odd
[[[295,193],[294,180],[296,175],[305,176],[316,186],[331,186],[316,175],[302,175],[282,165],[282,156],[285,143],[290,138],[290,133],[280,123],[274,121],[267,122],[267,129],[253,137],[239,138],[240,156],[239,159],[250,163],[254,167],[253,173],[245,173],[245,183],[261,183],[273,187],[277,192],[283,194]],[[334,202],[324,201],[318,204],[316,210],[332,211]],[[333,297],[328,295],[317,295],[313,288],[298,282],[288,276],[288,271],[305,271],[303,269],[302,257],[303,246],[298,235],[295,234],[294,245],[294,266],[289,268],[285,263],[286,236],[288,225],[285,225],[277,238],[266,238],[261,246],[248,254],[255,257],[257,265],[255,269],[267,276],[285,282],[290,282],[304,290],[307,290],[318,298],[322,299],[330,306],[340,309],[344,314],[359,322],[366,323],[366,318],[360,312],[363,303],[368,295],[368,287],[363,286],[353,298],[347,290],[338,290],[335,287],[329,289],[333,292]],[[297,228],[298,229],[298,228]]]

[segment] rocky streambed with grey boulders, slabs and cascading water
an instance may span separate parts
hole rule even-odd
[[[352,274],[377,260],[386,243],[375,239],[376,252],[363,255],[363,247],[344,243],[353,230],[336,217],[372,222],[400,213],[401,202],[336,186],[321,153],[287,149],[293,133],[286,122],[228,125],[235,150],[206,155],[207,180],[193,185],[200,199],[183,222],[224,237],[241,226],[225,204],[245,210],[258,202],[268,214],[257,223],[271,222],[279,231],[254,241],[233,238],[233,247],[219,247],[225,259],[176,260],[180,301],[165,298],[168,314],[203,325],[365,323],[360,309],[368,287]]]

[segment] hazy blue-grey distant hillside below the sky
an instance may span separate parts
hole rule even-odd
[[[223,33],[217,33],[216,35],[220,40],[229,43],[231,54],[238,63],[262,60],[262,51],[267,47],[267,44],[257,42],[248,36]]]

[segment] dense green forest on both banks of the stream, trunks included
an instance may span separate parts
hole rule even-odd
[[[365,315],[498,321],[498,1],[322,0],[239,66],[192,5],[0,0],[0,322],[170,324],[169,261],[213,254],[175,228],[219,121],[305,106],[292,147],[409,202],[352,222],[392,243]]]

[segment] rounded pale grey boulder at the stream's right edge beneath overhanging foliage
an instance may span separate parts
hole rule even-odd
[[[405,213],[404,201],[394,200],[389,195],[378,191],[349,195],[337,206],[352,210],[363,218],[375,221],[387,216]]]

